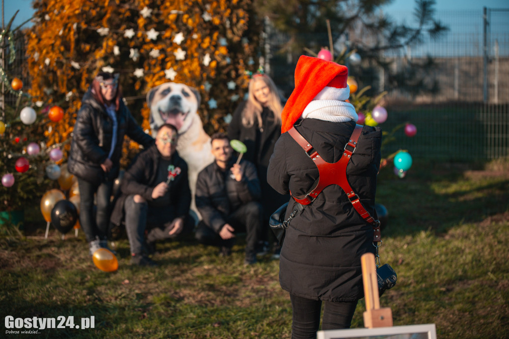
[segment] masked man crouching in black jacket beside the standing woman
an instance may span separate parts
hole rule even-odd
[[[176,147],[177,128],[162,125],[156,144],[138,155],[122,179],[122,195],[111,213],[111,223],[120,225],[125,219],[133,264],[156,265],[145,255],[150,248],[154,251],[156,240],[193,230],[187,164]],[[148,249],[144,248],[146,230]]]

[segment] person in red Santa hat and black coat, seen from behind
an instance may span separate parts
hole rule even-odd
[[[294,124],[325,161],[340,160],[358,119],[344,101],[350,94],[347,76],[345,66],[308,56],[299,59],[295,90],[282,114],[283,134],[268,169],[268,182],[279,193],[305,195],[319,178],[313,160],[286,132]],[[364,126],[347,167],[350,185],[373,216],[381,137],[380,128]],[[286,218],[295,204],[290,199]],[[350,327],[363,297],[360,257],[366,252],[375,252],[373,229],[338,185],[324,188],[291,221],[281,249],[279,281],[290,292],[293,338],[316,337],[322,301],[322,329]]]

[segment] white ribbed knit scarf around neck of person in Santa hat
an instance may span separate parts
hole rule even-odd
[[[338,100],[313,100],[304,108],[301,118],[331,122],[357,122],[359,120],[355,107],[351,103]]]

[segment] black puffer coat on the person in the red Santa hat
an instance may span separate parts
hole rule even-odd
[[[296,129],[327,162],[341,158],[354,122],[303,119]],[[380,128],[364,126],[347,167],[347,179],[371,215],[375,212],[380,167]],[[287,132],[276,143],[268,170],[269,184],[282,194],[306,194],[318,168]],[[296,202],[290,199],[287,218]],[[281,287],[308,299],[355,301],[363,296],[360,257],[374,252],[373,229],[355,211],[340,186],[326,187],[293,219],[279,262]]]

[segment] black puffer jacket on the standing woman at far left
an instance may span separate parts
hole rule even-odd
[[[106,160],[111,148],[113,121],[89,89],[81,100],[81,108],[74,125],[68,161],[69,173],[96,184],[113,180],[119,175],[125,135],[145,148],[154,144],[154,139],[139,127],[122,101],[117,111],[117,123],[117,143],[110,159],[113,167],[106,174],[101,169],[101,163]]]

